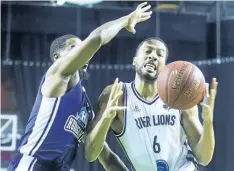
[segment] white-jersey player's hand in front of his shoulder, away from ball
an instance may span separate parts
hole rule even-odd
[[[119,79],[116,78],[110,92],[109,100],[104,111],[104,115],[107,118],[114,119],[117,111],[127,109],[125,106],[118,106],[118,100],[122,96],[122,84],[119,83]]]

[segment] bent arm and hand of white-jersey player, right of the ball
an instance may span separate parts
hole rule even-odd
[[[217,84],[216,79],[213,78],[208,101],[206,104],[202,104],[203,127],[199,121],[197,106],[183,111],[182,122],[185,132],[197,161],[202,165],[208,165],[214,153],[213,111]]]

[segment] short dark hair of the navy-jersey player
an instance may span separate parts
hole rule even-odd
[[[53,61],[54,60],[54,54],[61,48],[63,48],[66,44],[66,41],[70,38],[78,38],[75,35],[67,34],[61,37],[58,37],[55,39],[51,45],[50,45],[50,58]]]

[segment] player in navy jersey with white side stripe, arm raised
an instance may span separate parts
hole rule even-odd
[[[98,27],[84,41],[73,35],[53,41],[50,48],[53,64],[42,78],[18,153],[8,170],[70,170],[86,127],[94,118],[81,85],[87,63],[121,29],[135,33],[135,25],[149,19],[152,13],[147,11],[150,6],[146,4],[142,3],[129,15]],[[111,100],[115,101],[115,97]],[[107,111],[112,110],[122,109],[110,105]],[[91,152],[85,152],[88,160]],[[120,161],[115,155],[113,160]]]

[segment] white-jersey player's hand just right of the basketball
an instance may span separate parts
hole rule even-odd
[[[210,92],[209,92],[209,84],[207,84],[206,98],[204,102],[201,103],[202,118],[204,121],[213,122],[213,111],[214,111],[214,104],[217,93],[217,86],[218,82],[216,81],[216,78],[212,79]]]

